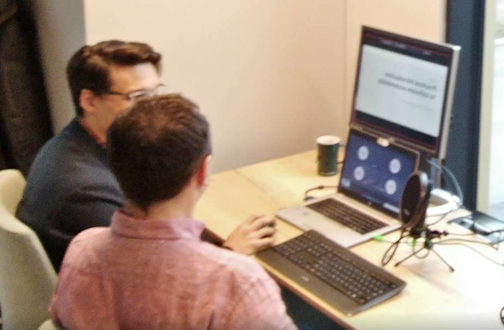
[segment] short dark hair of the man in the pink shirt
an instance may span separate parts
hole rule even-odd
[[[125,197],[146,209],[176,196],[211,154],[209,125],[179,95],[145,98],[111,125],[107,152]]]

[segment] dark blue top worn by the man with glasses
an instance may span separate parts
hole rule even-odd
[[[122,203],[105,149],[74,119],[37,154],[16,216],[38,234],[58,271],[70,240],[108,226]]]

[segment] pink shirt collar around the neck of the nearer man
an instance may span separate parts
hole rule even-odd
[[[143,239],[200,239],[205,224],[194,219],[138,220],[115,211],[110,224],[118,236]]]

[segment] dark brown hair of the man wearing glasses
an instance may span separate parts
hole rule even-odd
[[[79,97],[83,89],[94,92],[110,89],[110,66],[152,63],[158,73],[161,71],[161,54],[151,46],[140,42],[120,40],[102,41],[92,46],[84,46],[70,59],[67,65],[67,79],[78,116],[83,115]]]

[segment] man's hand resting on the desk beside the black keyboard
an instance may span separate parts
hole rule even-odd
[[[253,255],[273,246],[275,232],[274,218],[252,215],[233,230],[222,246],[244,255]]]

